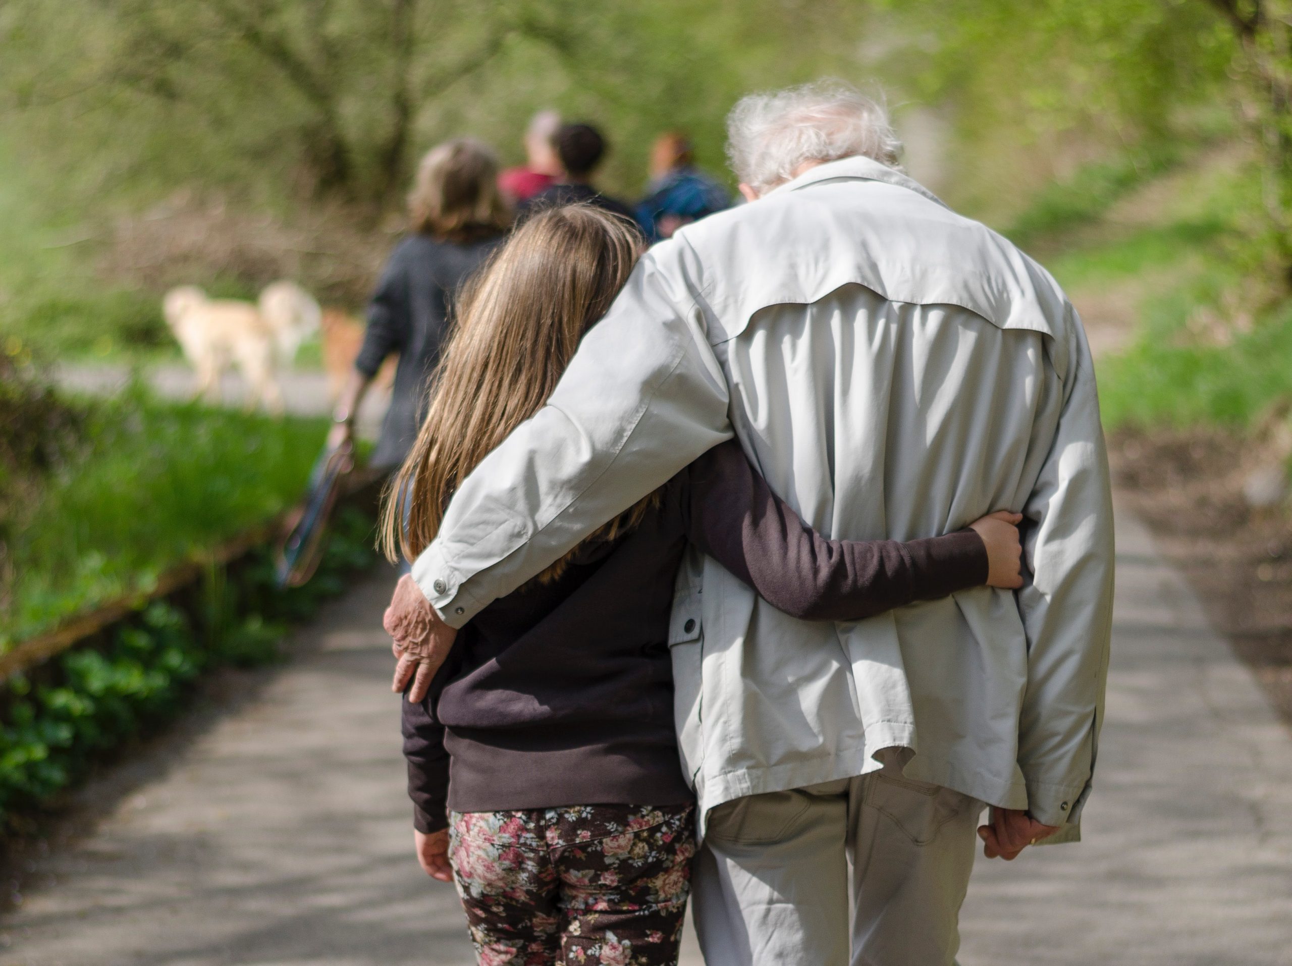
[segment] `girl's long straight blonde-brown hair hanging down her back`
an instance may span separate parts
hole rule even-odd
[[[553,208],[518,227],[468,283],[417,442],[386,489],[379,540],[391,562],[401,553],[413,559],[435,539],[459,483],[547,403],[579,340],[628,280],[640,245],[623,218],[590,205]],[[589,539],[636,527],[656,500]]]

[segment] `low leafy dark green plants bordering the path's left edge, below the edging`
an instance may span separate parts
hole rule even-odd
[[[74,648],[40,669],[39,681],[18,674],[4,682],[0,830],[27,825],[25,817],[105,753],[182,712],[202,672],[278,660],[288,622],[314,613],[376,560],[372,531],[371,514],[342,508],[304,588],[280,590],[269,551],[258,550],[209,573],[196,602],[182,594],[155,601],[107,630],[99,646]],[[214,603],[212,581],[222,588]]]

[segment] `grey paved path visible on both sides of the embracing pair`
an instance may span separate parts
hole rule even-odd
[[[1119,548],[1088,841],[981,860],[961,963],[1292,965],[1292,736],[1125,514]],[[36,860],[0,966],[470,963],[452,891],[411,856],[375,630],[390,582],[354,588],[296,660]]]

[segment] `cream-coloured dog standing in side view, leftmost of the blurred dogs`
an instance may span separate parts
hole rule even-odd
[[[212,300],[196,285],[183,285],[167,292],[162,311],[198,373],[198,394],[218,402],[220,376],[234,363],[247,381],[248,408],[264,403],[270,412],[283,411],[283,393],[274,376],[278,342],[255,305]]]

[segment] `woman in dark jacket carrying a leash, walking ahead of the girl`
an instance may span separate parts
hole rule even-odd
[[[368,328],[332,416],[331,444],[353,434],[372,378],[398,355],[390,408],[372,455],[393,469],[417,437],[426,377],[439,362],[453,300],[463,280],[501,240],[510,212],[497,190],[497,158],[488,145],[456,138],[432,149],[408,195],[410,232],[395,245],[368,303]]]

